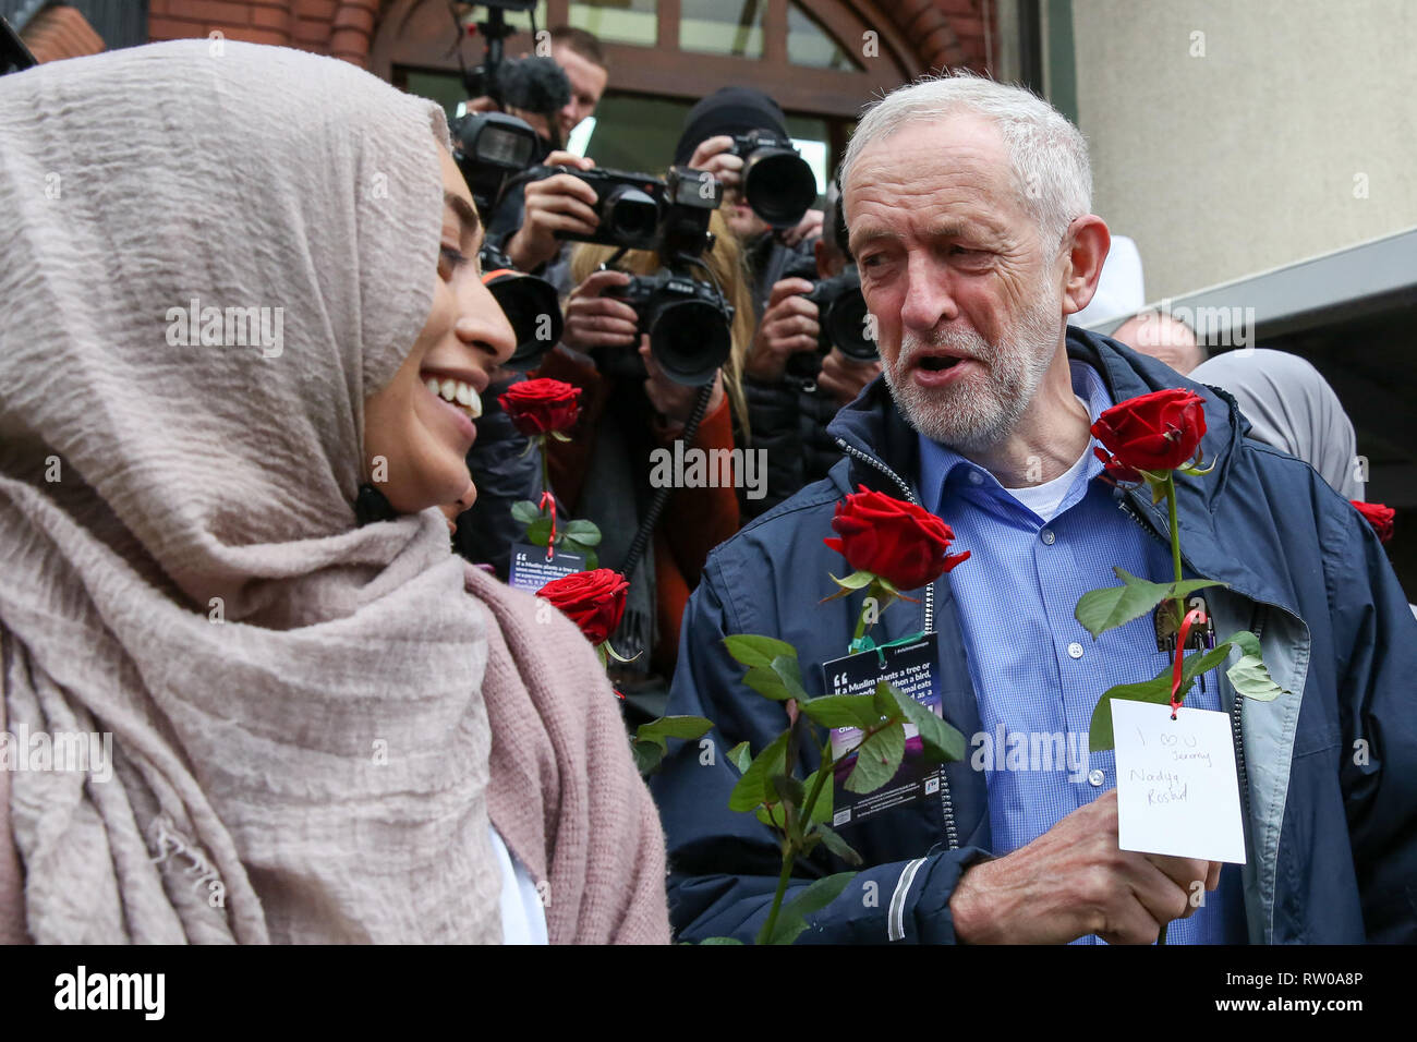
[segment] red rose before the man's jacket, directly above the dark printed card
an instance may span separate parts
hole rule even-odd
[[[939,517],[914,503],[860,492],[836,505],[832,527],[837,539],[823,539],[857,571],[880,576],[897,590],[918,590],[969,557],[949,553],[955,533]]]

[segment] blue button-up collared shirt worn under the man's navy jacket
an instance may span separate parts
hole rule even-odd
[[[1095,421],[1114,403],[1091,366],[1070,364],[1073,390]],[[952,551],[971,551],[949,573],[949,586],[982,726],[969,754],[988,778],[998,855],[1033,842],[1115,787],[1112,751],[1088,756],[1093,707],[1108,688],[1149,680],[1169,662],[1156,651],[1151,614],[1095,641],[1073,617],[1084,593],[1118,584],[1114,564],[1158,583],[1173,577],[1170,547],[1129,517],[1098,479],[1097,444],[1088,444],[1071,486],[1044,520],[989,471],[920,437],[920,499],[954,529]],[[1221,709],[1214,673],[1204,680],[1186,705]],[[1224,866],[1220,889],[1206,893],[1189,919],[1175,920],[1166,940],[1246,943],[1238,865]]]

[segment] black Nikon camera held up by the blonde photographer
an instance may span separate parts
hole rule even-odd
[[[665,376],[686,387],[710,383],[733,349],[733,306],[716,286],[660,268],[631,275],[629,284],[605,291],[639,316],[649,350]]]

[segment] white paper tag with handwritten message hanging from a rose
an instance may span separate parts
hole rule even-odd
[[[1112,699],[1112,734],[1124,851],[1244,865],[1229,716]]]

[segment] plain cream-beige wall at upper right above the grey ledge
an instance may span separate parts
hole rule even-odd
[[[1417,1],[1073,0],[1073,37],[1149,301],[1417,225]]]

